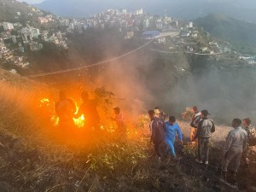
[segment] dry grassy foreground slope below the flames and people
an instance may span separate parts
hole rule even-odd
[[[126,143],[108,131],[64,133],[52,125],[48,105],[40,104],[42,96],[55,101],[56,90],[0,73],[0,142],[10,146],[0,147],[0,191],[232,191],[218,183],[218,147],[211,149],[211,166],[197,165],[189,148],[182,154],[178,145],[181,159],[159,164],[148,125],[129,124]],[[179,124],[188,137],[189,124]],[[219,142],[229,128],[217,129],[213,140]]]

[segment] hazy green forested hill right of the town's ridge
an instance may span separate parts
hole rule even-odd
[[[211,14],[195,20],[214,37],[229,42],[241,53],[256,53],[256,24],[243,20],[236,20],[225,15]]]

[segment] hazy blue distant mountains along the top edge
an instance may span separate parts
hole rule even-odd
[[[256,23],[254,0],[45,0],[36,6],[70,17],[85,17],[106,9],[143,8],[152,15],[167,14],[185,20],[220,13]]]

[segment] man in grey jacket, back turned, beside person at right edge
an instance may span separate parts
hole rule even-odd
[[[224,179],[226,179],[230,162],[232,162],[230,171],[236,177],[237,170],[240,166],[241,154],[247,146],[247,131],[241,129],[241,119],[233,119],[232,127],[234,130],[230,131],[224,145],[222,162],[222,175]]]

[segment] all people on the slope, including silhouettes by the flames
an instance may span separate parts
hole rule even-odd
[[[55,113],[59,117],[59,126],[61,129],[69,129],[74,127],[74,120],[78,119],[84,114],[86,117],[86,124],[84,128],[86,130],[94,129],[94,131],[101,131],[101,119],[97,112],[96,100],[91,100],[89,94],[86,91],[81,93],[83,103],[79,106],[77,111],[74,102],[67,98],[65,91],[60,91],[60,101],[55,104]],[[209,163],[209,149],[212,134],[215,132],[215,125],[212,119],[208,116],[210,113],[207,110],[198,110],[196,106],[192,108],[193,117],[191,118],[191,130],[190,130],[190,142],[197,143],[198,154],[195,162],[199,164],[207,165]],[[120,112],[120,108],[113,108],[114,116],[111,117],[116,125],[116,133],[119,137],[126,139],[127,127],[125,125],[125,118]],[[175,152],[176,138],[178,142],[183,146],[183,134],[176,122],[174,116],[170,116],[159,108],[148,111],[148,117],[150,119],[150,143],[154,144],[155,153],[158,155],[159,160],[166,160],[166,157],[171,155],[172,159],[177,159]],[[168,120],[166,120],[168,119]],[[222,154],[222,177],[224,180],[227,179],[228,167],[234,177],[240,166],[241,159],[247,160],[248,148],[256,144],[256,131],[251,125],[251,119],[233,119],[232,127],[233,130],[229,132],[226,137],[226,141],[223,148]],[[241,128],[241,124],[244,125]]]

